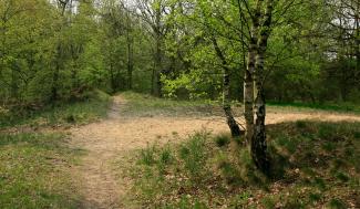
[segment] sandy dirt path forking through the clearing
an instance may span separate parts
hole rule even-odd
[[[195,130],[227,132],[222,117],[121,117],[126,101],[114,97],[109,117],[97,123],[72,128],[72,145],[88,150],[74,173],[82,179],[80,191],[85,198],[83,208],[127,208],[123,201],[127,181],[119,180],[114,159],[148,143],[176,140]],[[296,119],[358,121],[360,116],[327,113],[276,113],[267,115],[267,123]],[[174,135],[179,137],[174,137]]]

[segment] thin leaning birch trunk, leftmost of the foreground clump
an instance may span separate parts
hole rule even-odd
[[[233,112],[232,112],[232,104],[230,104],[230,70],[228,67],[226,58],[224,56],[220,48],[217,44],[215,38],[212,38],[214,49],[216,51],[217,56],[222,60],[222,65],[224,70],[224,77],[223,77],[223,109],[226,116],[227,125],[230,128],[232,136],[238,137],[241,135],[241,130],[237,125]]]

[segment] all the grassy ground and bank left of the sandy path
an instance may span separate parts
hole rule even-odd
[[[39,111],[1,113],[0,208],[81,207],[74,185],[79,179],[71,168],[83,151],[69,147],[66,133],[40,127],[81,125],[106,116],[111,97],[100,91],[86,94],[83,101]],[[11,127],[16,130],[8,132]]]

